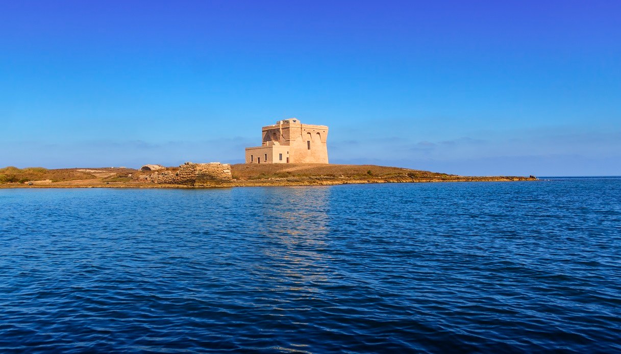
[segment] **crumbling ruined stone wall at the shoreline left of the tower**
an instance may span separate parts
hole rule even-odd
[[[191,163],[186,162],[176,171],[156,171],[151,175],[138,178],[142,182],[159,184],[186,184],[194,186],[201,183],[225,182],[233,179],[228,163]]]

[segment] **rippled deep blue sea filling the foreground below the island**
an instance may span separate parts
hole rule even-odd
[[[0,189],[0,352],[621,352],[621,178]]]

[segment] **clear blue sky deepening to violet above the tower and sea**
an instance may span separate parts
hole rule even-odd
[[[0,166],[332,163],[621,175],[621,1],[0,1]]]

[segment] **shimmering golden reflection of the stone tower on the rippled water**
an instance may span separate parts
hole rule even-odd
[[[263,254],[270,259],[265,276],[274,285],[270,289],[271,309],[278,317],[288,311],[303,311],[307,300],[319,299],[319,286],[330,282],[325,266],[329,247],[329,187],[266,188],[262,204],[261,234],[273,240],[276,247],[266,247]],[[276,301],[282,293],[283,301]],[[303,299],[302,302],[291,299]],[[287,300],[286,300],[287,299]],[[307,324],[304,324],[307,325]],[[292,341],[287,347],[274,347],[279,352],[306,353],[306,344]]]

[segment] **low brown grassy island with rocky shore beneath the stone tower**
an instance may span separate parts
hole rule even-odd
[[[0,188],[226,188],[363,183],[535,181],[535,176],[460,176],[409,168],[321,163],[185,163],[151,170],[107,168],[0,168]],[[201,173],[201,171],[206,171]],[[217,170],[213,173],[212,170]]]

